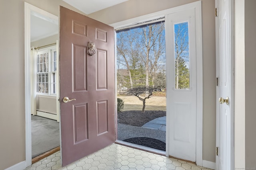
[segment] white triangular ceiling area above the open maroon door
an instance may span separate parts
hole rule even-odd
[[[76,9],[91,14],[93,12],[103,10],[110,6],[120,4],[128,0],[63,0],[64,2],[74,6]]]

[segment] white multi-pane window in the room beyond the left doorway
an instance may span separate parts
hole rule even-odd
[[[36,91],[38,94],[56,95],[56,49],[37,53]]]

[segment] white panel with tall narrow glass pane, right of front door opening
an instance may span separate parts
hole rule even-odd
[[[195,9],[166,16],[169,155],[196,161]]]

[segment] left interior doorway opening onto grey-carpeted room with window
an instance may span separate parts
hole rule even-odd
[[[25,2],[26,165],[60,150],[58,17]],[[26,22],[25,22],[26,23]],[[33,158],[33,159],[32,159]]]

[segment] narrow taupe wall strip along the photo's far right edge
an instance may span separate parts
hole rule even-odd
[[[256,168],[256,0],[244,1],[245,32],[245,168]]]

